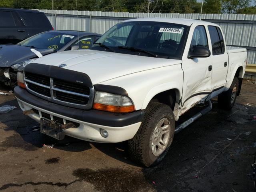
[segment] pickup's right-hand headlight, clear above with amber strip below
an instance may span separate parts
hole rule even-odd
[[[95,93],[93,108],[116,113],[127,113],[135,110],[129,97],[100,91]]]

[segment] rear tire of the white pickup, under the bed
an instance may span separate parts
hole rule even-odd
[[[234,77],[230,88],[218,95],[218,107],[224,110],[230,110],[236,102],[238,94],[239,82],[238,78]]]

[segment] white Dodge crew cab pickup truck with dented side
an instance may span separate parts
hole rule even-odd
[[[90,142],[128,140],[132,160],[160,162],[174,133],[211,110],[229,110],[247,63],[229,48],[220,26],[200,20],[138,18],[110,28],[90,50],[38,58],[19,69],[14,93],[40,131]],[[179,126],[199,103],[208,106]]]

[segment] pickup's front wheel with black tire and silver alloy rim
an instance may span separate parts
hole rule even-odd
[[[138,132],[128,141],[130,158],[146,167],[158,164],[172,144],[174,130],[172,109],[166,104],[150,102]]]

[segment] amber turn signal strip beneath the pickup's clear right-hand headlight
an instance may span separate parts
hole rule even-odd
[[[128,113],[135,110],[133,105],[130,106],[112,106],[112,105],[104,105],[100,103],[94,103],[92,108],[102,111],[109,111],[114,113]]]

